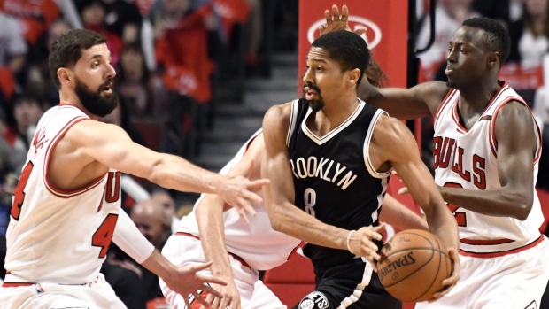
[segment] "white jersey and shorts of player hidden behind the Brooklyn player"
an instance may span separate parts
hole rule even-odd
[[[252,135],[251,139],[238,151],[235,158],[223,167],[220,174],[227,174],[232,167],[240,162],[251,141],[260,132],[259,130]],[[197,201],[197,204],[199,202],[200,200]],[[241,296],[241,305],[243,308],[286,308],[274,296],[273,292],[259,281],[258,270],[267,270],[282,265],[301,242],[271,228],[265,205],[256,204],[253,205],[253,208],[257,214],[249,218],[249,225],[239,218],[238,212],[234,208],[223,212],[225,242],[236,287]],[[178,232],[170,236],[162,254],[177,266],[205,262],[194,210],[183,217]],[[208,271],[205,271],[204,274],[211,275]],[[160,286],[166,299],[174,305],[174,308],[175,305],[180,309],[184,308],[181,296],[176,297],[174,292],[167,289],[166,284],[161,280]]]

